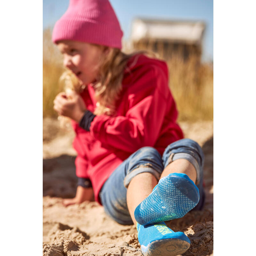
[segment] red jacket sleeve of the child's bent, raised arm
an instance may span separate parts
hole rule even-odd
[[[127,152],[135,152],[144,146],[153,147],[170,95],[168,78],[163,70],[149,66],[136,76],[124,95],[123,100],[128,106],[125,116],[96,116],[90,132],[102,143]]]

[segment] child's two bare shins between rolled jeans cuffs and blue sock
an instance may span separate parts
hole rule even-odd
[[[194,165],[186,159],[177,159],[168,164],[160,178],[173,172],[185,173],[193,182],[196,182],[196,169]],[[131,180],[127,188],[126,199],[128,210],[134,224],[136,224],[134,218],[135,208],[152,192],[157,183],[155,176],[149,172],[140,173]]]

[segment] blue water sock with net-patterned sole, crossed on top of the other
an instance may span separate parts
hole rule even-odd
[[[183,217],[199,202],[199,190],[184,173],[171,173],[159,180],[151,194],[135,209],[141,225]]]

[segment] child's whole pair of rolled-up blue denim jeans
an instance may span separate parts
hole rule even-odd
[[[205,198],[203,189],[204,153],[197,142],[182,139],[165,148],[162,157],[155,148],[143,147],[124,160],[100,190],[100,200],[105,212],[118,223],[131,225],[133,222],[126,203],[126,192],[132,178],[139,173],[150,172],[159,180],[164,168],[180,158],[187,159],[196,169],[196,186],[199,189],[200,199],[193,210],[201,210]]]

